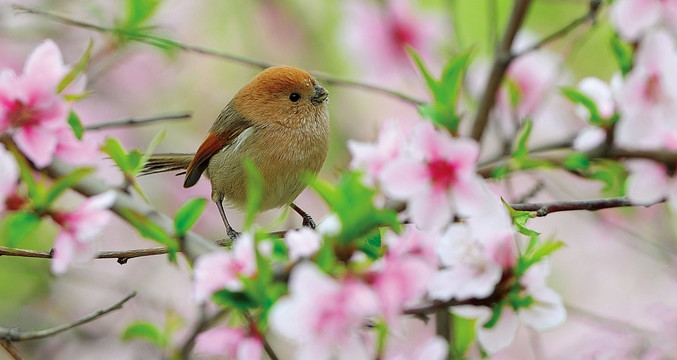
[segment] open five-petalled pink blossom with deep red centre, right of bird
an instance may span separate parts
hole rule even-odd
[[[422,122],[408,151],[386,164],[379,182],[387,196],[407,201],[406,212],[423,229],[440,229],[454,214],[467,215],[482,192],[475,173],[479,146]]]

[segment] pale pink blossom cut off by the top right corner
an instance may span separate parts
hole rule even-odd
[[[637,41],[648,30],[663,24],[677,30],[677,1],[618,0],[611,5],[611,23],[621,36]]]

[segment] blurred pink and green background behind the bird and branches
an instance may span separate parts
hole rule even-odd
[[[110,34],[20,14],[12,9],[12,3],[0,0],[0,68],[20,72],[26,56],[47,38],[60,46],[66,63],[76,62],[88,41],[94,41],[94,57],[87,74],[88,89],[94,93],[76,105],[85,125],[126,117],[192,113],[188,121],[88,133],[99,140],[117,137],[126,148],[144,149],[165,129],[157,152],[195,151],[221,108],[260,71],[255,66],[194,53],[166,52],[144,44],[118,46]],[[103,26],[112,26],[124,16],[124,1],[16,3]],[[450,56],[471,49],[474,64],[468,91],[463,95],[466,118],[471,118],[477,101],[473,88],[486,73],[511,4],[507,0],[165,0],[150,24],[156,26],[154,33],[180,42],[320,71],[423,100],[428,98],[424,83],[402,45],[414,47],[435,74]],[[587,7],[588,1],[583,0],[534,1],[518,43],[529,43],[560,29],[584,14]],[[550,70],[543,70],[548,86],[537,106],[556,104],[559,108],[534,114],[534,144],[566,139],[584,126],[572,106],[558,96],[557,85],[575,85],[585,76],[606,81],[617,71],[607,15],[603,10],[595,26],[582,26],[538,52],[541,63],[533,71],[541,70],[538,64]],[[323,178],[335,178],[346,168],[350,160],[348,139],[373,139],[379,124],[389,119],[422,121],[416,108],[400,99],[353,86],[329,84],[327,88],[331,93],[332,138],[320,174]],[[496,137],[486,137],[483,157],[491,158],[499,148]],[[103,155],[101,158],[97,163],[99,174],[111,185],[121,184],[112,162]],[[170,215],[190,197],[209,197],[205,179],[191,189],[183,189],[181,183],[181,178],[171,174],[141,179],[153,205]],[[515,176],[497,183],[496,189],[515,201],[536,184],[542,184],[542,190],[533,201],[596,198],[602,188],[599,183],[565,173],[541,172]],[[73,207],[79,201],[80,197],[73,194],[62,206]],[[316,219],[328,212],[310,190],[297,203]],[[677,335],[675,228],[666,214],[665,206],[660,205],[558,213],[530,222],[546,236],[567,244],[552,258],[550,285],[563,296],[569,319],[544,333],[522,328],[515,343],[493,358],[648,359],[656,354],[677,354],[671,341]],[[298,217],[286,215],[286,211],[267,212],[259,216],[258,223],[271,229],[300,226]],[[239,228],[241,217],[231,211],[229,218]],[[207,238],[224,236],[213,205],[195,230]],[[45,221],[21,247],[48,250],[55,232],[55,227]],[[141,239],[117,219],[99,239],[101,250],[153,246],[156,244]],[[120,333],[132,321],[147,320],[177,329],[173,341],[180,343],[197,314],[190,280],[190,267],[183,259],[173,265],[164,256],[132,259],[125,265],[115,260],[94,260],[60,277],[51,275],[46,260],[3,256],[0,326],[24,330],[55,326],[112,304],[135,289],[138,296],[120,311],[18,347],[35,359],[160,358],[161,350],[143,341],[122,342]],[[0,351],[0,359],[4,356]]]

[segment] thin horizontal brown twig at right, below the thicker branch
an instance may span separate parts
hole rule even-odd
[[[527,204],[510,204],[518,211],[533,211],[535,216],[546,216],[560,211],[576,211],[587,210],[597,211],[603,209],[628,207],[628,206],[644,206],[649,207],[665,202],[661,199],[652,203],[638,204],[633,203],[626,197],[608,198],[608,199],[593,199],[593,200],[572,200],[572,201],[553,201],[543,203],[527,203]]]

